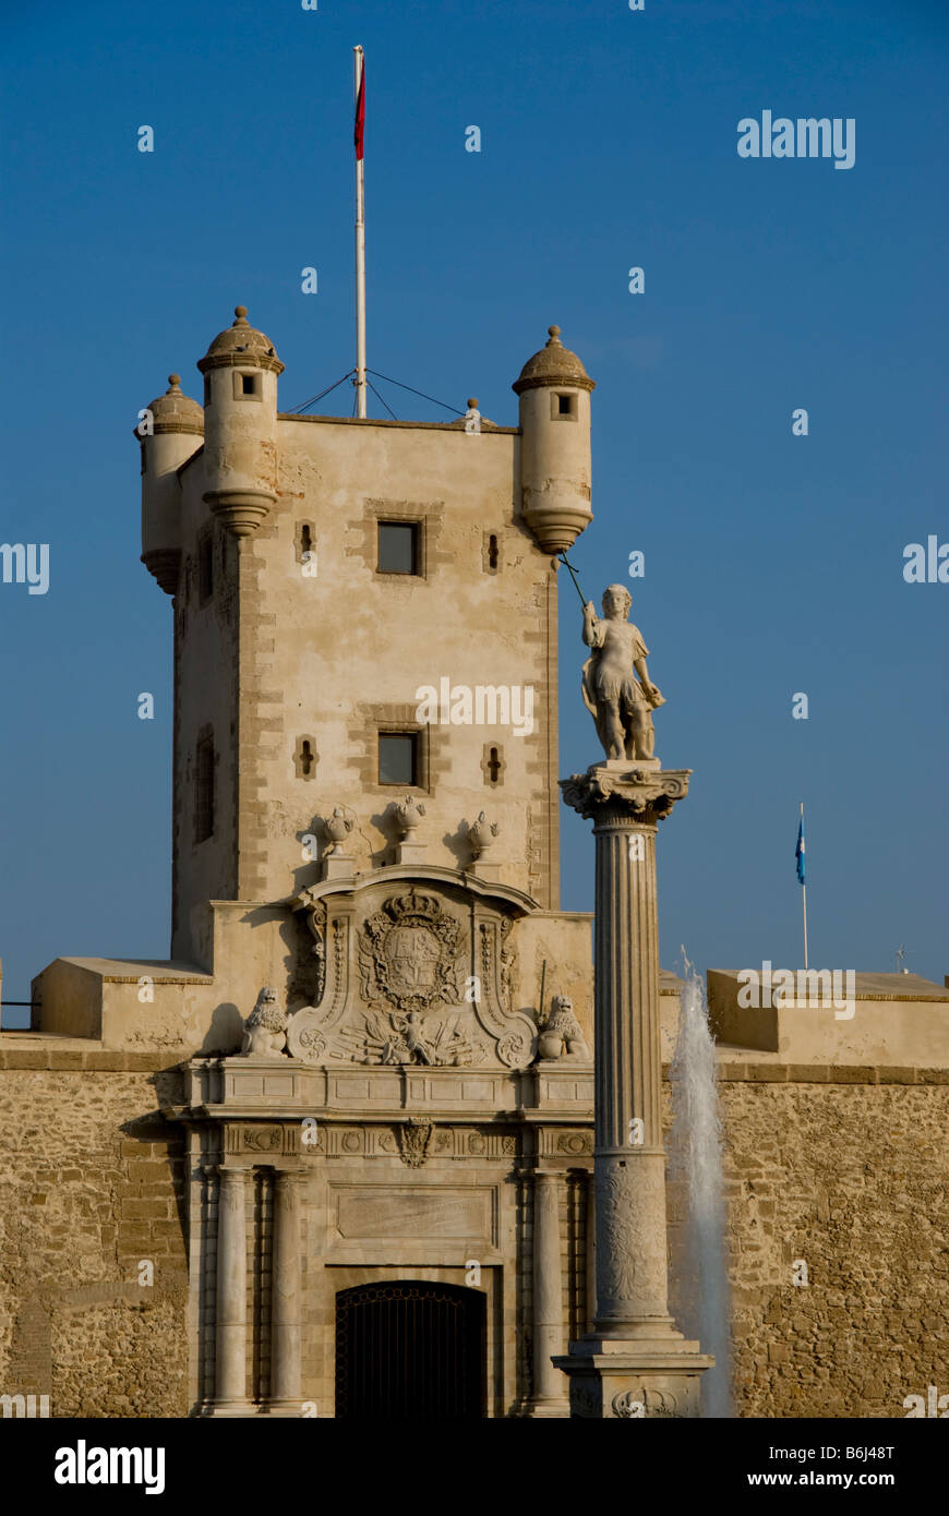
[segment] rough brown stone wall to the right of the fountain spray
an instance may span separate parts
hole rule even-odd
[[[949,1392],[949,1070],[720,1078],[735,1413],[902,1417]]]

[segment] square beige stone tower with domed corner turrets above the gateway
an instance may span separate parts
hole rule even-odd
[[[553,555],[591,520],[593,388],[558,334],[514,385],[520,428],[283,414],[283,365],[244,306],[197,365],[203,411],[176,376],[150,406],[143,561],[174,596],[173,958],[209,961],[209,901],[294,896],[337,810],[358,870],[420,846],[465,870],[485,811],[490,872],[556,910]],[[408,850],[406,794],[424,810]]]

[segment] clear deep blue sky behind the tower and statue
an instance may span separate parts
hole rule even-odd
[[[511,424],[556,321],[597,381],[573,558],[599,599],[646,553],[658,752],[694,770],[661,828],[662,961],[799,961],[803,799],[811,963],[905,943],[941,982],[949,585],[907,585],[902,552],[949,541],[946,8],[53,0],[3,32],[0,541],[52,562],[45,596],[0,584],[5,998],[58,954],[168,951],[171,609],[138,562],[132,426],[171,370],[200,396],[238,302],[283,409],[352,365],[355,42],[370,365]],[[740,159],[764,109],[852,117],[853,168]],[[597,756],[582,658],[564,576],[564,775]],[[562,846],[587,910],[572,813]]]

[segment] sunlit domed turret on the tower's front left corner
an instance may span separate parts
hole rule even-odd
[[[205,376],[205,502],[235,537],[249,537],[276,500],[277,376],[283,364],[247,306],[211,343]]]

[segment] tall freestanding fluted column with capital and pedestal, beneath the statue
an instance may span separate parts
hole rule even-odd
[[[655,837],[688,778],[611,760],[561,781],[596,835],[596,1322],[558,1360],[573,1416],[697,1416],[714,1361],[667,1304]]]

